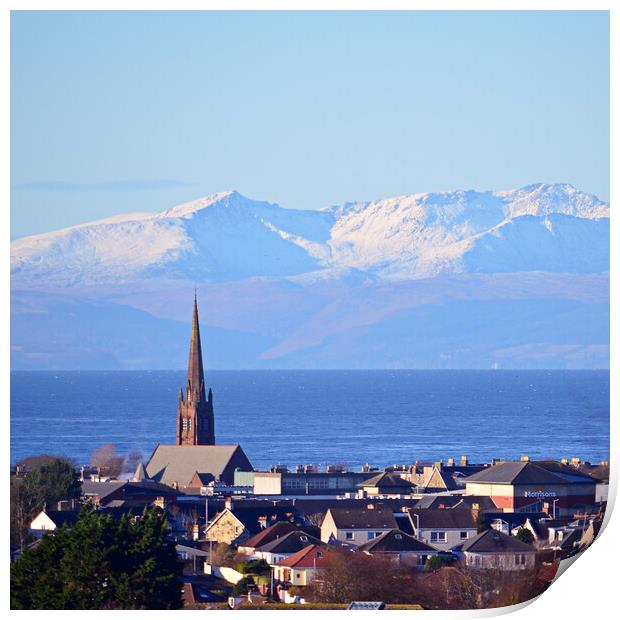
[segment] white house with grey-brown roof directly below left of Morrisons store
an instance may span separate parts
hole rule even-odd
[[[466,508],[426,508],[409,511],[414,536],[439,550],[448,551],[478,533],[474,511]]]

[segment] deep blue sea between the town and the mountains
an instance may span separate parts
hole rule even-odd
[[[181,371],[11,373],[11,462],[174,443]],[[608,371],[210,371],[218,443],[255,467],[467,454],[609,458]]]

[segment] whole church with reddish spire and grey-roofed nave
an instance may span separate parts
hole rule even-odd
[[[185,488],[193,479],[233,484],[235,470],[253,471],[238,444],[215,443],[213,391],[207,393],[202,365],[202,344],[198,301],[194,294],[194,315],[189,343],[185,394],[179,391],[176,444],[157,444],[144,467],[144,479]]]

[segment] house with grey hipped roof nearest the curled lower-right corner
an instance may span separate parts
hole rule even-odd
[[[534,568],[536,550],[515,536],[486,530],[452,549],[469,568],[526,570]]]

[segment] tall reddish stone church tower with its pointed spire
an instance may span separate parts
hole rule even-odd
[[[213,393],[205,396],[205,378],[202,367],[202,346],[198,322],[198,301],[194,290],[194,316],[189,343],[187,387],[185,398],[179,392],[177,416],[177,444],[180,446],[205,446],[215,444],[215,421],[213,416]]]

